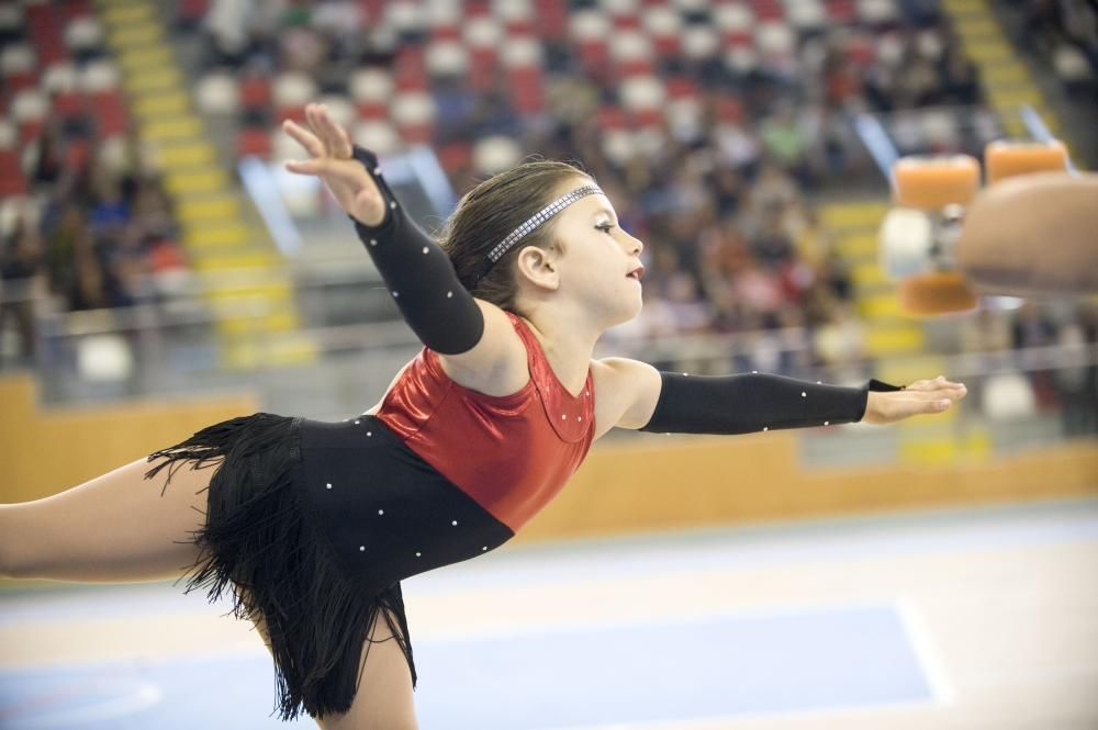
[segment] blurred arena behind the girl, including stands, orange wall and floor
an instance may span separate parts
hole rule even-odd
[[[419,350],[282,168],[314,101],[428,231],[530,156],[589,170],[647,270],[596,357],[968,389],[893,427],[612,431],[515,546],[407,582],[424,727],[1098,728],[1098,301],[906,315],[874,151],[1047,134],[1094,169],[1093,0],[2,2],[0,502],[235,415],[348,418]],[[273,727],[232,625],[2,583],[0,727]]]

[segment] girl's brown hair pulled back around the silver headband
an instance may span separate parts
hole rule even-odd
[[[557,160],[533,160],[498,172],[462,195],[440,233],[439,245],[450,257],[458,280],[469,292],[502,310],[515,312],[518,294],[514,260],[527,246],[548,249],[553,220],[512,246],[479,281],[488,252],[553,202],[571,178],[591,179],[584,170]]]

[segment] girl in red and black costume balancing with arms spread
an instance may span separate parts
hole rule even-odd
[[[323,105],[306,120],[284,130],[310,159],[287,167],[332,190],[419,353],[357,418],[237,417],[57,495],[0,505],[7,575],[186,577],[188,592],[228,595],[273,655],[282,719],[415,728],[401,581],[506,542],[615,426],[890,424],[965,395],[942,377],[845,388],[593,359],[603,332],[641,308],[643,244],[590,176],[556,161],[496,175],[461,199],[439,245]]]

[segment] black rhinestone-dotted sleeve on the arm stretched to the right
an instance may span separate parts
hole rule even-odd
[[[903,390],[878,380],[845,388],[768,373],[660,375],[660,398],[642,431],[725,435],[850,424],[865,415],[870,391]]]

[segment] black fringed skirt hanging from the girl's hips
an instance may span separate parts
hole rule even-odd
[[[261,619],[282,720],[350,709],[379,614],[416,682],[400,582],[379,591],[348,575],[302,504],[301,420],[256,413],[214,424],[149,454],[150,462],[164,460],[145,474],[168,467],[170,482],[183,464],[201,469],[212,464],[205,525],[193,534],[200,557],[180,580],[211,603],[227,596],[237,618]]]

